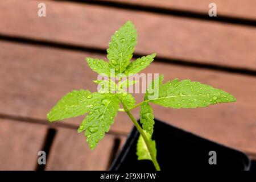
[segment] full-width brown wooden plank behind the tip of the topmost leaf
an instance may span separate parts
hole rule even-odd
[[[47,1],[47,16],[39,18],[39,2],[1,1],[0,34],[105,49],[113,32],[133,20],[138,54],[256,69],[254,27],[56,1]]]

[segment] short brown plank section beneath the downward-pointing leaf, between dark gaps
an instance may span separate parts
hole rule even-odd
[[[58,129],[49,156],[47,170],[106,170],[113,148],[113,137],[104,139],[92,151],[85,137],[76,130]]]

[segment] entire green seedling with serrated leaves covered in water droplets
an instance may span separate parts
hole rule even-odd
[[[125,91],[135,81],[121,81],[123,77],[129,77],[142,71],[154,60],[155,53],[143,56],[135,61],[133,57],[135,45],[137,44],[137,31],[132,22],[126,22],[112,36],[109,43],[108,59],[86,58],[90,68],[109,80],[95,80],[100,85],[98,92],[91,93],[89,90],[73,90],[61,98],[59,102],[47,114],[50,122],[59,121],[65,118],[77,117],[88,113],[82,121],[78,132],[84,131],[86,141],[93,150],[99,140],[104,138],[118,111],[125,111],[131,121],[141,134],[137,143],[138,160],[152,160],[156,170],[160,170],[156,160],[156,143],[151,139],[154,129],[154,115],[152,104],[180,108],[207,107],[210,104],[223,102],[234,102],[231,94],[223,90],[213,88],[200,82],[174,79],[163,84],[163,76],[160,75],[151,85],[148,86],[144,101],[135,105],[134,97]],[[118,84],[111,78],[117,78]],[[123,109],[119,108],[122,105]],[[141,107],[142,127],[131,114],[131,110]]]

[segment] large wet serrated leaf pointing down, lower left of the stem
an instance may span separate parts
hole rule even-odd
[[[90,107],[78,132],[85,131],[86,141],[89,142],[92,150],[97,146],[98,141],[104,138],[105,132],[109,131],[118,109],[119,100],[116,94],[101,94],[100,100]]]

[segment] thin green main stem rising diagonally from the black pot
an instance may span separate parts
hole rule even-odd
[[[121,101],[121,100],[120,100]],[[152,162],[155,166],[156,171],[161,171],[160,166],[158,164],[158,161],[156,160],[156,157],[154,156],[154,152],[152,151],[152,147],[150,145],[150,142],[148,141],[146,135],[144,134],[143,129],[141,128],[141,126],[139,126],[139,123],[137,122],[137,120],[133,117],[133,114],[131,114],[130,110],[126,107],[125,104],[123,104],[123,102],[121,101],[122,105],[123,105],[123,109],[125,110],[125,112],[127,113],[127,115],[131,118],[131,121],[133,121],[135,127],[137,127],[137,130],[139,131],[139,133],[142,135],[142,138],[144,140],[144,142],[146,143],[147,149],[150,152],[150,156],[152,159]]]

